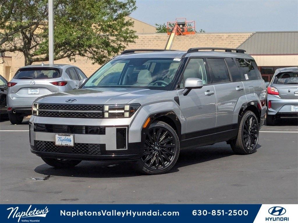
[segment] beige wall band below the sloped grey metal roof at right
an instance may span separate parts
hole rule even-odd
[[[252,55],[259,67],[292,67],[298,66],[297,55]]]

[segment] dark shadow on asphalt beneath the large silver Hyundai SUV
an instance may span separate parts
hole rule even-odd
[[[258,148],[260,145],[258,145]],[[192,148],[180,151],[179,159],[175,166],[168,172],[178,172],[180,167],[203,163],[235,155],[225,142],[215,145]],[[135,168],[133,161],[82,161],[71,169],[55,169],[47,164],[34,169],[35,172],[50,176],[82,177],[82,178],[118,178],[142,175]],[[166,173],[166,174],[168,174]]]

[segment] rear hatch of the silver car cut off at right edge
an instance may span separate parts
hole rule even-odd
[[[278,73],[271,84],[282,99],[298,99],[298,72]]]

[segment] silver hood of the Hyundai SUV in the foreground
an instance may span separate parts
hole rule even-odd
[[[165,92],[143,88],[92,88],[77,89],[68,92],[44,95],[35,100],[38,103],[66,104],[66,100],[75,99],[69,104],[127,104],[135,98]]]

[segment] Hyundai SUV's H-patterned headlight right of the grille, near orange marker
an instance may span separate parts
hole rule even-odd
[[[126,105],[104,105],[103,112],[105,118],[130,118],[136,110],[140,107],[140,104],[126,104]]]

